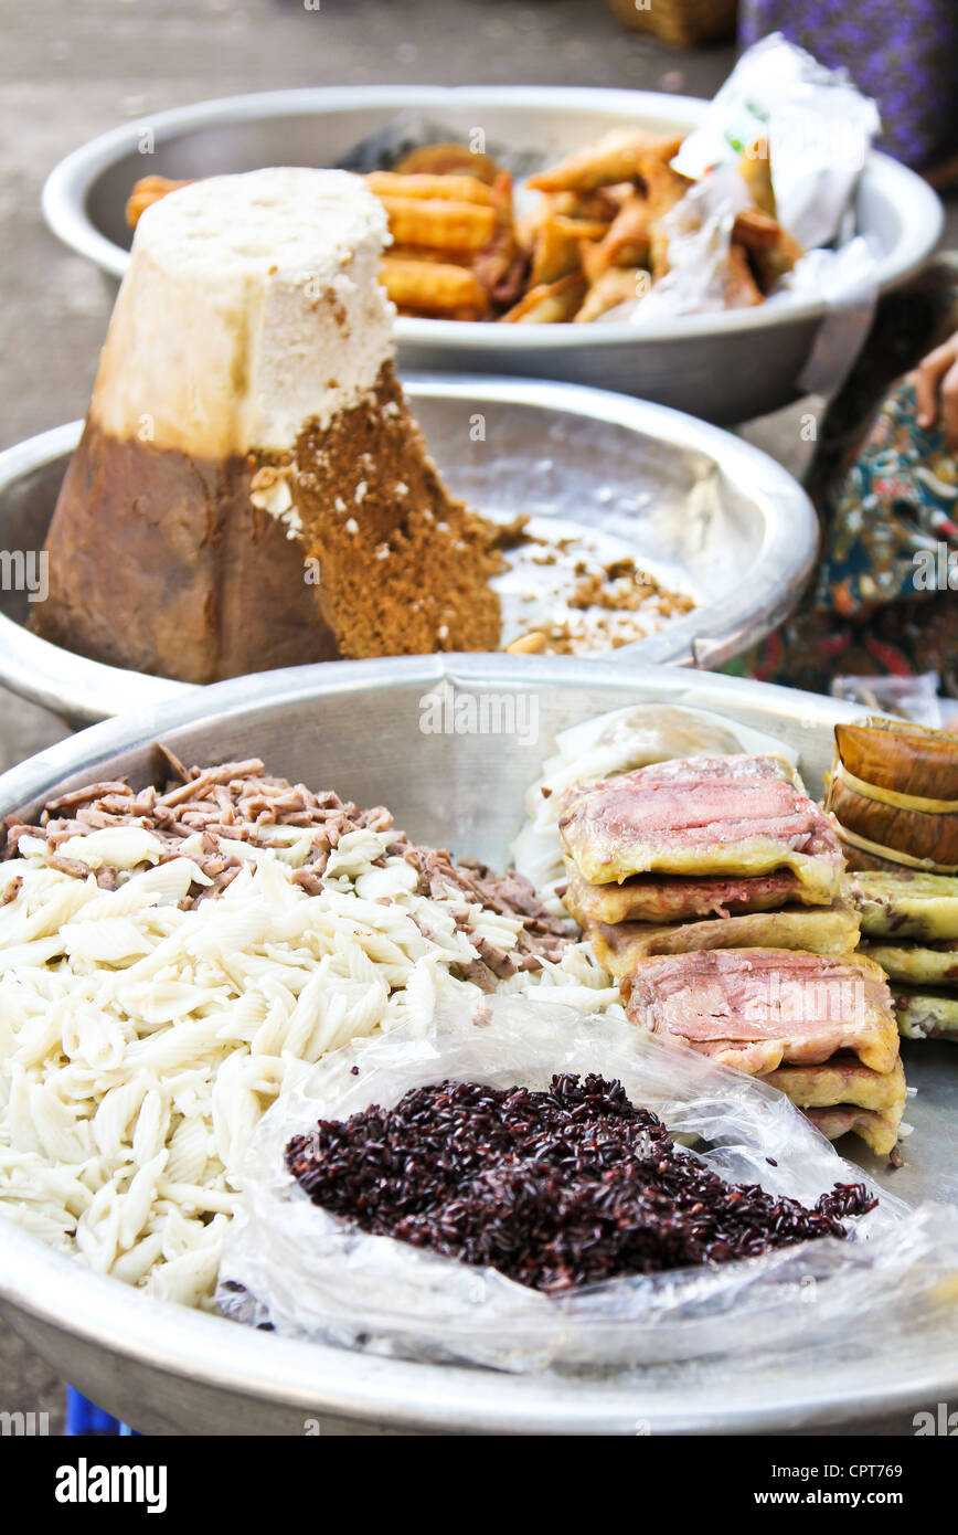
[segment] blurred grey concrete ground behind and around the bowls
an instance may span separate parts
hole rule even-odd
[[[68,150],[129,118],[307,84],[631,86],[712,95],[734,49],[677,54],[596,0],[34,0],[6,6],[0,95],[0,447],[81,416],[111,310],[98,273],[46,232],[40,189]],[[949,212],[958,235],[955,210]],[[955,243],[952,239],[952,243]],[[797,467],[797,410],[748,434]],[[0,689],[0,771],[66,734]],[[48,1411],[57,1372],[0,1325],[0,1409]],[[895,1424],[863,1426],[897,1432]],[[904,1431],[909,1426],[904,1424]]]

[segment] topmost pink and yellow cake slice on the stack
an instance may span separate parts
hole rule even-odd
[[[637,873],[760,875],[792,869],[832,901],[841,853],[832,827],[780,757],[694,757],[567,789],[565,853],[591,884]]]

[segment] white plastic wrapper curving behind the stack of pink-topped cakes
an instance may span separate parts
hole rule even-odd
[[[798,755],[785,741],[708,709],[634,703],[573,725],[556,737],[556,752],[525,791],[525,821],[510,852],[519,873],[533,881],[553,915],[565,916],[556,886],[565,884],[559,812],[573,783],[599,783],[614,774],[648,768],[671,757],[726,757],[772,752],[795,768]]]

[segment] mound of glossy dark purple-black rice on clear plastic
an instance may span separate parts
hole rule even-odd
[[[600,1076],[554,1076],[547,1093],[418,1087],[391,1110],[319,1121],[286,1164],[362,1231],[542,1291],[844,1237],[840,1217],[877,1203],[863,1183],[835,1183],[811,1210],[728,1183]]]

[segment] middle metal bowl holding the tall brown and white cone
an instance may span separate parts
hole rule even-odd
[[[447,484],[479,511],[600,527],[694,597],[692,612],[616,651],[625,662],[718,666],[780,623],[808,580],[818,540],[808,496],[765,453],[715,427],[570,384],[404,385]],[[78,434],[72,422],[0,454],[0,550],[43,548]],[[0,591],[0,683],[72,723],[190,691],[49,645],[25,626],[29,608],[26,591]]]

